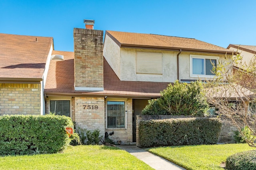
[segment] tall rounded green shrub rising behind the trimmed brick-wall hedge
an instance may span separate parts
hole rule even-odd
[[[160,92],[161,97],[149,100],[143,115],[203,115],[208,108],[202,82],[174,84]]]

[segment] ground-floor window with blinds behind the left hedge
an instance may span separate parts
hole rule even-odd
[[[70,117],[70,100],[50,100],[50,112]]]

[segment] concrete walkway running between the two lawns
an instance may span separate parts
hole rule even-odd
[[[186,170],[160,156],[136,147],[136,145],[116,145],[116,147],[126,150],[156,170]]]

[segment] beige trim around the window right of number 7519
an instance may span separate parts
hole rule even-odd
[[[112,101],[112,102],[124,102],[124,108],[125,108],[125,113],[124,113],[124,127],[108,127],[108,101]],[[127,129],[127,98],[107,98],[106,99],[106,111],[105,111],[105,115],[106,115],[106,129],[115,129],[115,130],[121,130],[121,129]]]

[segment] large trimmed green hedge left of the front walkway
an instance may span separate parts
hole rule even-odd
[[[60,152],[70,143],[67,125],[73,123],[66,116],[0,116],[0,155]]]

